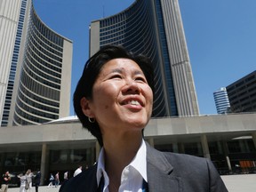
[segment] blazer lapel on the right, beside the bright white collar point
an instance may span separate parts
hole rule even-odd
[[[147,174],[149,192],[182,191],[181,180],[172,175],[172,164],[165,158],[162,152],[147,146]]]

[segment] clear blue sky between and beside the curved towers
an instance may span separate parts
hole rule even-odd
[[[73,41],[74,92],[89,53],[89,25],[134,0],[34,0],[44,23]],[[200,114],[216,114],[213,92],[256,69],[255,0],[180,0]],[[72,98],[72,95],[71,95]],[[70,115],[74,115],[70,105]]]

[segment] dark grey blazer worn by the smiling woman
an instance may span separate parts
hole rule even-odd
[[[147,146],[149,192],[225,192],[228,191],[212,162],[206,158],[160,152]],[[60,192],[100,191],[97,164],[63,183]]]

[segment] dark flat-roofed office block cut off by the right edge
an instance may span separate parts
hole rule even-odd
[[[256,111],[256,70],[227,86],[230,112]]]

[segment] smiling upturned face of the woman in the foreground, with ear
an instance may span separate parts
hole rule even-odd
[[[129,59],[109,60],[100,71],[88,101],[90,117],[102,134],[140,131],[152,113],[153,92],[139,65]],[[83,106],[83,101],[81,102]],[[83,108],[83,107],[82,107]]]

